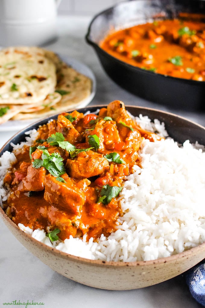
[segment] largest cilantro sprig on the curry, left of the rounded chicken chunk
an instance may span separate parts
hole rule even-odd
[[[44,167],[53,176],[61,176],[65,173],[63,158],[59,153],[49,154],[48,150],[42,150],[42,159],[35,159],[32,164],[34,168]]]

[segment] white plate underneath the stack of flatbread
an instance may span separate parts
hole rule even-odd
[[[64,62],[66,62],[68,65],[72,66],[76,71],[78,71],[79,73],[89,77],[92,80],[92,91],[91,94],[89,95],[89,97],[87,97],[86,99],[82,100],[81,103],[79,103],[77,105],[77,108],[83,108],[85,106],[87,106],[91,100],[93,99],[95,92],[96,92],[96,79],[95,79],[95,75],[93,74],[93,72],[90,70],[89,67],[87,67],[85,64],[77,61],[76,59],[67,57],[65,55],[59,55],[59,58],[61,58]],[[44,115],[45,118],[45,115]],[[26,126],[41,120],[40,118],[34,118],[34,119],[30,119],[30,120],[19,120],[19,121],[12,121],[9,120],[6,123],[3,123],[0,125],[0,132],[11,132],[11,131],[19,131],[23,128],[25,128]]]

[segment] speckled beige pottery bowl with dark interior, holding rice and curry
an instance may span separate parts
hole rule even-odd
[[[90,110],[93,112],[99,107],[106,106],[86,107],[78,111],[85,113]],[[198,141],[200,144],[205,144],[205,128],[189,120],[155,109],[133,106],[126,106],[126,109],[135,116],[148,115],[152,120],[159,119],[164,122],[169,136],[180,143],[189,139],[191,143]],[[51,118],[57,118],[57,115],[38,121],[17,133],[3,146],[0,156],[5,151],[12,151],[11,142],[17,144],[24,141],[26,131],[38,128],[39,125],[47,123]],[[203,243],[185,252],[154,261],[106,262],[89,260],[66,254],[35,240],[19,229],[2,209],[0,209],[0,216],[18,241],[42,262],[69,279],[95,288],[131,290],[151,286],[183,273],[205,258],[205,243]]]

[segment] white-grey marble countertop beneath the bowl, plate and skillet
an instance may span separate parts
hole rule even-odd
[[[59,37],[56,42],[45,47],[61,55],[73,57],[92,69],[97,79],[97,93],[91,105],[106,104],[114,99],[120,99],[125,104],[171,111],[205,126],[205,114],[203,113],[168,109],[140,99],[112,82],[101,68],[92,47],[85,43],[84,37],[90,20],[89,17],[60,16],[58,18]],[[0,148],[15,133],[15,127],[13,131],[1,132]],[[99,290],[73,282],[51,270],[17,241],[2,220],[0,230],[0,308],[6,307],[3,303],[15,300],[16,305],[19,300],[20,302],[32,302],[32,300],[43,302],[45,308],[74,306],[83,308],[202,307],[191,297],[183,275],[144,289]],[[7,305],[7,307],[10,306]]]

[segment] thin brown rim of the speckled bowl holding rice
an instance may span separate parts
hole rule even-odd
[[[107,107],[107,105],[93,105],[93,106],[87,106],[87,107],[83,107],[83,108],[78,108],[78,109],[75,109],[75,110],[81,110],[81,109],[89,109],[89,108],[103,108],[103,107]],[[161,111],[161,110],[158,110],[158,109],[154,109],[154,108],[148,108],[148,107],[140,107],[140,106],[133,106],[133,105],[126,105],[125,106],[126,108],[128,107],[132,107],[132,108],[136,108],[136,109],[144,109],[145,111],[156,111],[156,112],[159,112],[161,114],[164,114],[164,115],[170,115],[170,116],[173,116],[174,118],[179,118],[181,120],[185,120],[187,121],[188,123],[191,123],[191,124],[195,124],[197,127],[199,128],[202,128],[203,130],[205,130],[205,127],[203,127],[202,125],[200,124],[197,124],[193,121],[190,121],[182,116],[179,116],[179,115],[176,115],[174,113],[171,113],[171,112],[166,112],[166,111]],[[68,112],[71,112],[73,109],[70,109],[68,110]],[[86,111],[85,111],[86,112]],[[43,125],[45,123],[47,123],[50,119],[52,119],[52,117],[56,117],[59,113],[56,113],[55,115],[52,115],[50,117],[45,117],[44,119],[41,119],[41,120],[38,120],[36,121],[35,123],[33,124],[30,124],[29,126],[27,126],[26,128],[22,129],[21,131],[19,131],[18,133],[16,133],[13,137],[10,138],[10,140],[8,140],[4,145],[3,147],[0,149],[0,155],[2,155],[4,152],[5,152],[5,147],[10,144],[10,142],[12,142],[12,140],[17,137],[18,135],[23,135],[25,134],[26,131],[28,131],[29,129],[32,129],[33,126],[37,127],[37,125]],[[47,122],[46,122],[47,121]],[[44,123],[45,122],[45,123]],[[34,128],[34,127],[33,127]],[[155,260],[150,260],[150,261],[132,261],[132,262],[122,262],[122,261],[103,261],[103,260],[91,260],[91,259],[87,259],[87,258],[83,258],[83,257],[77,257],[77,256],[74,256],[74,255],[71,255],[69,253],[65,253],[65,252],[62,252],[60,250],[57,250],[53,247],[50,247],[40,241],[37,241],[35,238],[31,237],[29,234],[25,233],[24,231],[22,231],[16,224],[14,224],[14,222],[5,214],[5,212],[3,211],[3,209],[1,208],[0,206],[0,217],[2,217],[2,219],[5,221],[8,222],[8,224],[12,225],[17,232],[20,232],[22,233],[22,236],[23,237],[28,237],[30,239],[30,241],[32,241],[34,243],[34,245],[40,245],[41,248],[44,250],[44,251],[49,251],[50,253],[53,253],[54,255],[59,255],[61,256],[62,258],[64,259],[71,259],[72,261],[77,261],[77,262],[81,262],[81,263],[86,263],[86,264],[90,264],[90,265],[97,265],[97,266],[115,266],[115,267],[122,267],[122,266],[129,266],[129,267],[133,267],[133,266],[145,266],[145,265],[154,265],[154,264],[163,264],[163,263],[166,263],[168,261],[170,262],[175,262],[177,261],[177,259],[179,257],[188,257],[192,255],[192,253],[195,253],[197,252],[197,250],[200,250],[200,248],[203,248],[205,250],[205,242],[200,244],[200,245],[197,245],[191,249],[188,249],[188,250],[185,250],[181,253],[177,253],[177,254],[174,254],[174,255],[171,255],[169,257],[162,257],[162,258],[159,258],[159,259],[155,259]],[[204,257],[205,257],[205,254],[204,254]],[[203,258],[204,258],[203,257]],[[202,259],[203,259],[202,258]]]

